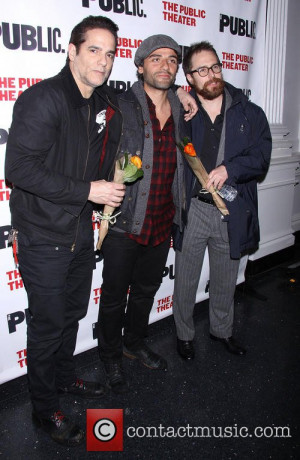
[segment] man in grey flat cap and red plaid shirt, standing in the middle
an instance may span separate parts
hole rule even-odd
[[[98,344],[107,383],[115,393],[128,390],[123,353],[150,369],[167,369],[165,359],[146,346],[144,337],[172,224],[182,228],[184,218],[183,160],[175,141],[180,139],[181,106],[170,90],[180,61],[181,48],[171,37],[145,39],[134,59],[138,81],[118,100],[124,118],[121,153],[140,156],[144,177],[127,185],[121,214],[102,245]]]

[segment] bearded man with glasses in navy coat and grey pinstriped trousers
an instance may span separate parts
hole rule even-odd
[[[210,43],[192,45],[183,69],[199,107],[189,122],[191,140],[209,181],[202,189],[187,166],[190,207],[175,262],[177,350],[184,359],[194,358],[193,310],[208,247],[210,338],[242,356],[244,348],[232,337],[234,292],[240,257],[259,242],[257,181],[269,166],[270,129],[263,110],[223,80],[222,64]],[[225,217],[207,192],[210,186],[220,190],[224,184],[237,190],[232,202],[225,201]]]

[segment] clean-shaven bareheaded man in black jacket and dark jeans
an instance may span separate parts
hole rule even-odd
[[[92,203],[119,206],[124,185],[106,182],[121,133],[121,114],[105,85],[118,27],[89,16],[72,31],[66,66],[17,100],[6,152],[12,243],[28,295],[27,370],[34,421],[64,444],[83,431],[59,407],[59,393],[100,397],[98,383],[76,377],[78,321],[95,268]],[[106,110],[115,108],[111,129]],[[100,180],[102,179],[102,180]]]

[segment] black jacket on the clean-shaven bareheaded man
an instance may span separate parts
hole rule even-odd
[[[111,129],[104,136],[105,155],[99,145],[97,177],[89,170],[89,102],[81,96],[68,65],[16,101],[5,174],[13,184],[10,208],[17,230],[71,248],[83,208],[91,219],[90,181],[108,178],[122,129],[114,92],[104,85],[92,97],[96,113],[108,105],[114,109]]]

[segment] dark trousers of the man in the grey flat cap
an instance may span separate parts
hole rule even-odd
[[[170,239],[158,246],[143,246],[116,231],[106,236],[102,245],[104,265],[98,322],[99,354],[104,362],[121,361],[123,327],[124,343],[131,349],[137,348],[147,334],[169,247]]]

